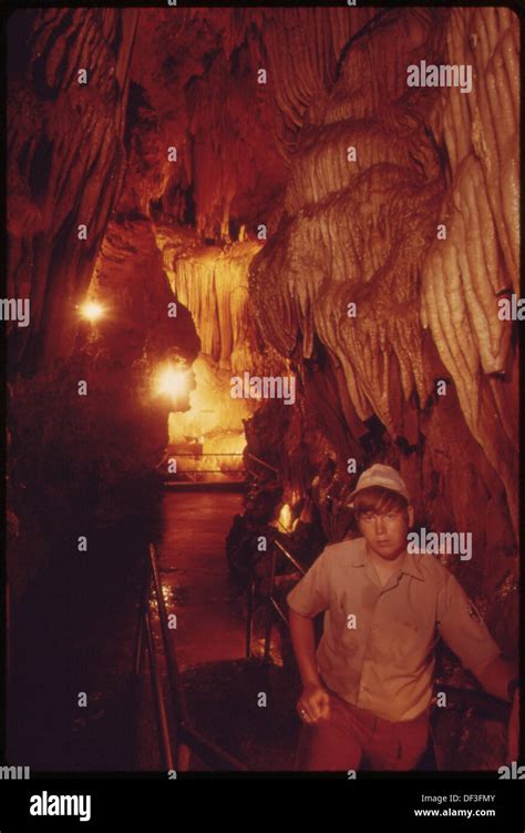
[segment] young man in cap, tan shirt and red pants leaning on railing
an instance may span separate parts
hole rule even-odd
[[[297,768],[358,770],[363,759],[372,770],[415,768],[439,636],[485,691],[513,703],[508,753],[517,760],[517,670],[454,576],[434,556],[408,553],[414,510],[399,473],[372,466],[350,501],[362,537],[327,546],[287,597],[303,685]]]

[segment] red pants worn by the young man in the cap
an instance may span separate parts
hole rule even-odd
[[[426,749],[429,710],[415,720],[392,723],[351,705],[330,691],[330,718],[303,724],[296,768],[300,771],[412,770]]]

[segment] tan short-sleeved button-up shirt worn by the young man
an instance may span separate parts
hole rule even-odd
[[[301,616],[326,611],[316,659],[328,688],[387,720],[412,720],[429,705],[440,636],[467,670],[500,654],[465,591],[435,556],[406,553],[381,585],[364,538],[333,544],[287,601]]]

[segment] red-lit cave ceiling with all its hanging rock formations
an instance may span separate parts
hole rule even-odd
[[[16,372],[71,355],[72,306],[96,286],[138,352],[172,339],[240,369],[266,351],[313,403],[323,362],[343,433],[378,419],[416,447],[444,379],[517,530],[518,346],[497,306],[519,274],[509,9],[47,9],[10,26],[8,287],[32,304]],[[469,65],[472,89],[409,85],[421,62]],[[192,321],[140,335],[158,323],[146,277]]]

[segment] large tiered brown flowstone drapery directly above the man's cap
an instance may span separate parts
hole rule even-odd
[[[426,18],[428,28],[432,20]],[[392,18],[389,35],[404,23],[404,17]],[[403,41],[404,61],[421,48],[419,23],[415,43]],[[347,63],[356,65],[346,69],[340,83],[348,84],[356,68],[363,70],[363,53],[370,67],[382,51],[381,41],[370,35],[356,59],[349,53]],[[286,193],[288,217],[279,226],[279,243],[254,261],[250,286],[259,325],[274,346],[290,353],[300,329],[308,357],[316,332],[343,367],[360,418],[375,413],[395,437],[401,423],[390,406],[397,395],[389,383],[389,355],[399,363],[406,402],[413,387],[420,403],[431,393],[421,355],[418,274],[443,185],[424,119],[410,109],[408,114],[405,90],[399,101],[389,92],[378,92],[377,110],[364,119],[347,113],[341,122],[299,133]],[[420,98],[418,92],[414,103]],[[423,113],[431,101],[419,101]],[[356,161],[348,158],[349,146],[356,148]],[[282,315],[288,308],[291,314]]]

